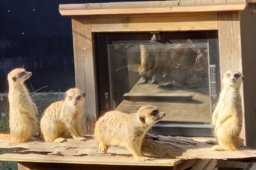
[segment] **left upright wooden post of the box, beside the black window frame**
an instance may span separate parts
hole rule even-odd
[[[97,100],[90,18],[72,18],[72,34],[76,87],[86,93],[82,119],[83,132],[84,134],[93,134],[97,115]]]

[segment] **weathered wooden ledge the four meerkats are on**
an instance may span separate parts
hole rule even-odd
[[[34,164],[42,166],[43,163],[65,163],[67,167],[71,166],[70,164],[76,164],[74,166],[78,166],[78,164],[79,166],[82,166],[81,164],[92,166],[93,164],[93,166],[129,165],[130,168],[133,166],[155,166],[155,168],[156,166],[161,166],[162,169],[165,167],[169,167],[169,169],[185,169],[193,166],[194,168],[213,169],[216,166],[216,160],[242,162],[256,160],[256,150],[246,147],[242,147],[238,151],[214,151],[211,149],[211,145],[205,143],[209,138],[147,134],[142,144],[142,153],[155,158],[141,162],[135,160],[130,152],[123,148],[110,147],[107,153],[99,152],[98,142],[92,136],[86,137],[86,141],[68,138],[62,143],[34,140],[12,145],[7,140],[0,140],[0,148],[24,148],[18,152],[2,154],[0,155],[0,160],[18,161],[19,168],[25,165],[28,168],[29,165],[32,166]],[[65,167],[65,165],[63,166]]]

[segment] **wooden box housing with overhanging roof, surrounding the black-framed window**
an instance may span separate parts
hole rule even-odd
[[[256,13],[253,0],[170,0],[99,4],[61,4],[72,17],[76,86],[86,92],[84,130],[92,134],[99,117],[94,35],[113,32],[218,31],[220,75],[243,72],[241,88],[246,146],[256,147],[254,57]],[[216,51],[217,52],[217,51]]]

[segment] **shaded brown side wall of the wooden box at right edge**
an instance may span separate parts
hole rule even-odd
[[[256,148],[256,13],[252,13],[252,5],[253,4],[249,4],[245,11],[240,12],[240,28],[242,43],[242,71],[245,76],[243,90],[246,146]],[[256,10],[255,4],[254,10]]]

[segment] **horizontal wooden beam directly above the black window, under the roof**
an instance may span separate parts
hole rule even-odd
[[[183,13],[184,14],[184,13]],[[216,13],[92,18],[92,32],[218,30]]]

